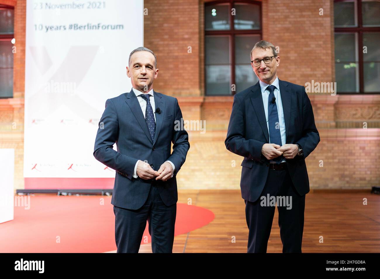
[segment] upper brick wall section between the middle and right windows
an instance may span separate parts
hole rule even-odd
[[[263,39],[279,46],[279,78],[300,85],[334,81],[333,25],[332,0],[263,1]]]

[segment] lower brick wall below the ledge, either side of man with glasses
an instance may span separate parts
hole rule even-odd
[[[366,189],[379,185],[379,129],[319,129],[321,142],[306,158],[310,188]],[[239,189],[242,158],[224,145],[226,131],[191,132],[177,175],[179,188]]]

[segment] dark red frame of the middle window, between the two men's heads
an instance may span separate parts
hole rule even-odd
[[[259,14],[260,14],[260,29],[239,29],[235,30],[234,27],[234,16],[231,14],[231,9],[234,7],[234,4],[244,3],[244,4],[253,4],[259,6]],[[263,38],[263,14],[262,14],[262,2],[255,0],[217,0],[205,2],[203,5],[203,13],[205,14],[206,6],[212,6],[215,4],[228,4],[228,19],[230,22],[229,30],[206,30],[206,27],[203,28],[204,32],[204,40],[203,40],[203,49],[206,54],[206,36],[228,36],[229,38],[229,55],[230,55],[230,95],[220,94],[220,95],[207,95],[207,79],[206,79],[206,71],[204,71],[204,95],[205,96],[233,96],[237,92],[231,91],[231,85],[235,84],[235,35],[260,35],[260,40]],[[206,22],[206,17],[204,17],[204,21]],[[253,46],[252,46],[253,47]],[[204,69],[206,69],[206,58],[204,59]]]

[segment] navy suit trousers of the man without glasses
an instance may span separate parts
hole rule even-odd
[[[146,202],[138,210],[114,206],[117,253],[138,253],[147,221],[152,252],[172,252],[177,204],[166,206],[158,187],[152,183]]]

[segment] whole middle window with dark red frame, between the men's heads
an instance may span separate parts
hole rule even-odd
[[[250,52],[261,40],[261,2],[208,2],[204,19],[206,95],[233,95],[254,85]]]

